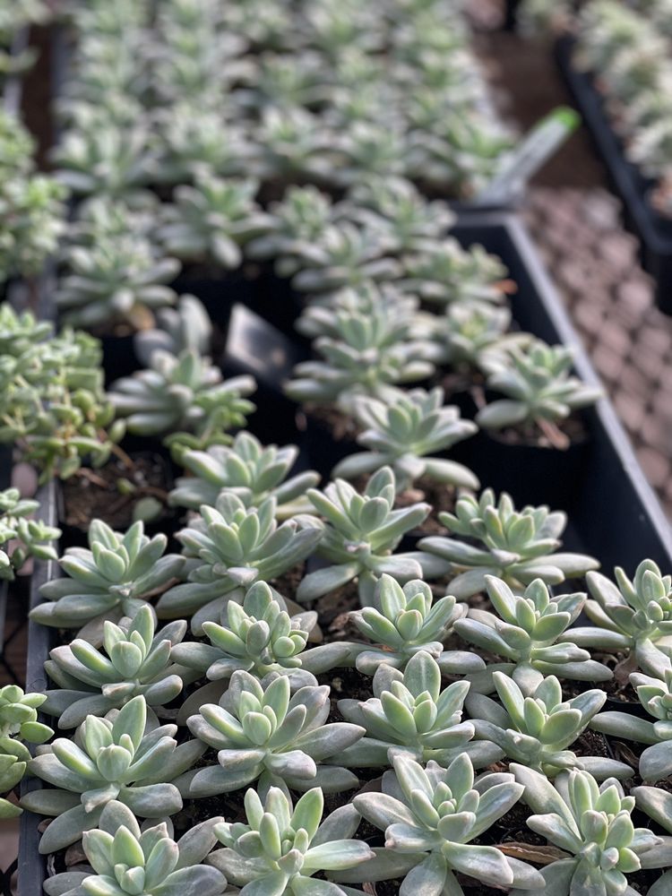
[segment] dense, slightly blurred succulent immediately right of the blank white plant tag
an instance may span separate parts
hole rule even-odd
[[[294,368],[285,386],[294,401],[330,404],[347,413],[355,396],[392,401],[401,383],[426,379],[434,372],[426,345],[412,332],[415,303],[374,286],[344,290],[329,306],[306,311],[300,332],[319,332],[313,348],[319,360]]]

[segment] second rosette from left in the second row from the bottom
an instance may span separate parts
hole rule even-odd
[[[205,703],[187,725],[195,737],[217,750],[218,765],[187,771],[177,786],[185,797],[210,797],[258,780],[265,792],[278,787],[329,793],[354,788],[357,777],[332,762],[355,744],[364,728],[349,722],[326,724],[329,687],[308,685],[291,694],[287,676],[259,681],[234,672],[219,705]]]

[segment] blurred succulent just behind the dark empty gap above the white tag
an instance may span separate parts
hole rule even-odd
[[[254,202],[254,180],[223,180],[210,172],[196,175],[194,185],[180,185],[175,204],[164,211],[158,237],[170,254],[185,261],[213,261],[237,268],[241,246],[263,234],[270,218]]]

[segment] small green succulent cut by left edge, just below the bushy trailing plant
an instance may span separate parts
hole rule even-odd
[[[18,488],[0,491],[0,579],[12,581],[29,557],[57,560],[50,544],[61,530],[30,517],[39,510],[39,501],[22,498]]]

